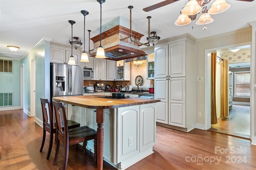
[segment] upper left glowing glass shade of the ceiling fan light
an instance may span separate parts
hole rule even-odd
[[[194,14],[198,14],[201,10],[202,7],[198,4],[197,0],[190,0],[181,10],[181,13],[187,16],[192,16]]]

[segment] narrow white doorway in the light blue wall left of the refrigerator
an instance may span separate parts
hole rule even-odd
[[[36,59],[32,59],[30,64],[30,117],[34,117],[36,113]]]

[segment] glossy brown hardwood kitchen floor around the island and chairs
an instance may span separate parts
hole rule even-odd
[[[0,170],[62,169],[64,149],[52,165],[56,146],[46,160],[49,134],[42,152],[42,127],[22,109],[0,111]],[[189,133],[157,126],[154,153],[127,170],[255,170],[256,146],[250,140],[194,129]],[[218,147],[218,149],[215,149]],[[222,152],[228,149],[227,152]],[[232,153],[232,151],[236,151]],[[68,170],[96,170],[94,155],[82,146],[70,148]],[[202,158],[202,160],[200,159]],[[218,158],[218,161],[216,158]],[[210,162],[212,160],[212,162]],[[240,162],[239,162],[240,161]],[[245,162],[246,161],[246,162]],[[104,162],[104,170],[115,168]]]

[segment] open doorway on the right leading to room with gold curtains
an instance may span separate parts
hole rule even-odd
[[[239,49],[239,51],[232,52],[231,49]],[[217,123],[211,124],[208,130],[250,139],[250,45],[216,49],[211,52],[217,52],[217,56],[221,59],[228,60],[228,116],[220,118],[218,113],[220,109],[216,108]],[[208,67],[206,72],[209,69]],[[249,79],[247,84],[244,81],[246,77],[247,80]],[[218,88],[220,84],[216,84],[216,91]],[[219,98],[220,95],[216,95],[217,107]]]

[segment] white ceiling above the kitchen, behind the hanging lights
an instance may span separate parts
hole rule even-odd
[[[187,0],[179,0],[164,7],[144,12],[142,9],[163,0],[106,0],[102,4],[102,25],[118,16],[130,19],[128,6],[132,5],[132,21],[135,30],[144,34],[141,39],[146,43],[148,37],[148,19],[150,31],[156,31],[161,39],[189,33],[196,39],[218,35],[249,27],[248,22],[256,20],[256,0],[244,2],[226,0],[231,7],[221,14],[211,15],[213,23],[207,26],[196,25],[192,21],[186,26],[176,26],[181,9]],[[207,5],[208,9],[213,0]],[[28,53],[42,38],[53,42],[66,43],[71,38],[71,25],[68,20],[74,20],[73,37],[84,41],[84,16],[81,10],[89,12],[86,16],[86,30],[90,29],[90,37],[98,35],[100,27],[100,4],[96,0],[0,0],[0,56],[22,57]],[[192,29],[192,26],[194,27]],[[160,39],[160,40],[161,40]],[[88,32],[86,31],[86,51],[88,51]],[[93,49],[91,41],[90,49]],[[16,52],[10,52],[7,45],[20,47]],[[146,46],[144,46],[146,47]],[[144,48],[141,46],[141,48]],[[70,45],[71,48],[71,45]],[[81,47],[81,50],[83,45]]]

